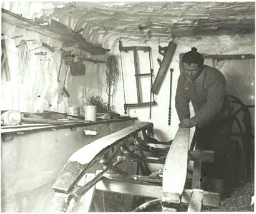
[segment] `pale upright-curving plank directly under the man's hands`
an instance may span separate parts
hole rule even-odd
[[[187,175],[189,128],[179,128],[172,141],[164,165],[163,201],[180,203]]]

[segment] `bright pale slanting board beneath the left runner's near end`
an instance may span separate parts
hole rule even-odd
[[[92,178],[95,177],[94,173],[86,173],[84,176],[84,185],[88,183]],[[88,190],[77,202],[76,207],[74,207],[74,212],[82,212],[82,213],[88,213],[90,212],[90,208],[92,205],[92,200],[94,197],[94,193],[96,190],[96,186],[94,185],[90,190]]]

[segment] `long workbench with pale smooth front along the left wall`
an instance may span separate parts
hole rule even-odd
[[[137,123],[137,118],[1,127],[2,212],[47,212],[52,185],[79,148]],[[96,130],[85,135],[83,130]]]

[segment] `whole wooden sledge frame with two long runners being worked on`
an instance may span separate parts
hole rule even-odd
[[[140,131],[143,139],[139,137]],[[189,212],[200,212],[202,206],[219,207],[219,193],[200,188],[202,162],[212,162],[214,153],[189,151],[187,128],[179,128],[170,142],[152,139],[149,137],[152,132],[152,123],[139,122],[77,150],[67,160],[52,186],[55,195],[50,211],[89,212],[95,190],[160,198],[164,212],[177,211],[180,203],[189,204]],[[154,148],[149,143],[169,144],[170,147]],[[142,175],[129,175],[117,168],[121,162],[127,161],[137,162]],[[191,184],[187,188],[189,161],[194,161],[194,168],[190,176]],[[89,173],[96,163],[101,163],[103,170]],[[158,177],[152,174],[148,176],[147,163],[164,165],[162,174],[156,173]]]

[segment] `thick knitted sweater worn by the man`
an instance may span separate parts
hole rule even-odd
[[[190,100],[195,111],[192,119],[199,127],[224,119],[234,110],[227,94],[224,75],[219,70],[206,65],[194,82],[186,72],[180,74],[175,96],[175,107],[180,120],[190,118]]]

